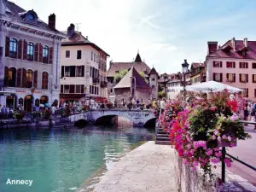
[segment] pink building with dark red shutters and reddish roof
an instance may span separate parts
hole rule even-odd
[[[232,38],[222,46],[208,42],[207,81],[240,88],[244,97],[256,100],[256,41]]]

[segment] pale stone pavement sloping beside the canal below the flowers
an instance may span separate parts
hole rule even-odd
[[[126,154],[94,192],[177,192],[174,149],[148,142]]]

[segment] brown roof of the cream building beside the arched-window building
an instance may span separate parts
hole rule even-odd
[[[66,32],[67,33],[67,32]],[[103,49],[101,49],[99,46],[97,46],[94,43],[91,43],[88,38],[84,38],[81,32],[74,32],[73,35],[69,38],[62,39],[61,46],[72,46],[72,45],[90,45],[93,48],[102,51],[107,56],[108,53],[106,53]]]

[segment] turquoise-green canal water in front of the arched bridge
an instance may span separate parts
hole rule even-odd
[[[152,136],[141,127],[0,131],[0,191],[76,191],[131,151],[132,144]],[[32,180],[32,186],[9,185],[8,179]]]

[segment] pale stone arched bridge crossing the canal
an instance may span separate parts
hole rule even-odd
[[[155,121],[154,113],[151,110],[128,110],[128,109],[97,109],[84,113],[75,113],[69,117],[71,122],[77,122],[79,119],[85,119],[90,124],[94,124],[100,119],[113,119],[113,117],[124,117],[129,119],[133,125],[147,125]]]

